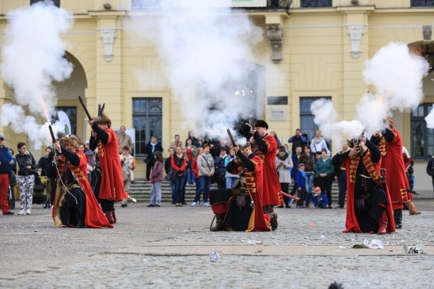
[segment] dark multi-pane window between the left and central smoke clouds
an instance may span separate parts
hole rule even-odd
[[[163,100],[161,98],[133,98],[133,126],[136,129],[134,151],[136,156],[145,154],[145,146],[156,136],[161,141],[163,134]]]

